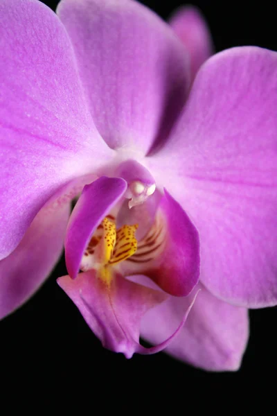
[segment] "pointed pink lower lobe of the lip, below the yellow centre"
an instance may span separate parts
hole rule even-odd
[[[122,352],[126,358],[137,351],[145,354],[139,345],[141,318],[148,309],[166,299],[164,293],[120,275],[114,276],[108,289],[94,270],[80,273],[75,280],[69,276],[60,277],[57,283],[73,300],[103,347]],[[152,354],[154,352],[153,349]]]

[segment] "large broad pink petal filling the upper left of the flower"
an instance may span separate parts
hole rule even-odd
[[[51,194],[112,151],[96,131],[69,37],[40,1],[0,2],[0,259]]]

